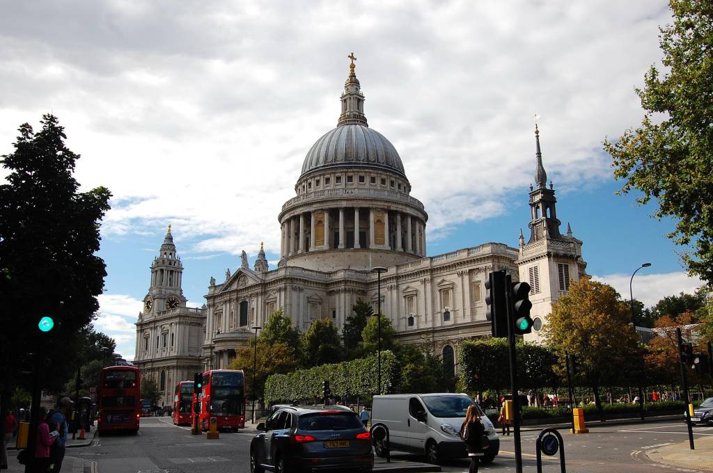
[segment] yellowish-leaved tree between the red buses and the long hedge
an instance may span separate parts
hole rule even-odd
[[[265,380],[267,380],[267,377],[296,370],[299,368],[299,360],[294,356],[294,348],[287,345],[287,343],[261,343],[260,338],[258,338],[257,365],[255,366],[255,378],[253,378],[254,350],[255,347],[237,350],[237,356],[230,363],[230,369],[245,370],[246,394],[252,396],[252,383],[256,383],[255,395],[262,399],[265,397]]]

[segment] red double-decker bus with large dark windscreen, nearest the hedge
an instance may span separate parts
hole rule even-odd
[[[215,417],[218,429],[245,428],[245,373],[242,370],[203,373],[199,417],[202,430],[208,430],[210,417]]]

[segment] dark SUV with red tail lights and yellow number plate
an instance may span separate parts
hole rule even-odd
[[[371,473],[371,434],[351,410],[334,406],[284,406],[250,442],[250,472],[350,469]]]

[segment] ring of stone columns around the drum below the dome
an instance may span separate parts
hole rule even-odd
[[[358,231],[354,231],[354,229]],[[387,249],[426,256],[426,225],[411,214],[339,207],[300,212],[282,222],[282,257],[324,249]]]

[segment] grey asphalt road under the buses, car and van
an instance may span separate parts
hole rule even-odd
[[[697,469],[664,467],[645,455],[647,449],[687,442],[683,422],[606,426],[592,423],[589,434],[562,432],[567,472],[643,473],[662,469],[695,473]],[[713,427],[694,427],[695,437],[713,436]],[[523,471],[535,472],[535,431],[522,434]],[[254,432],[221,432],[219,440],[190,435],[188,427],[176,427],[170,417],[144,418],[138,435],[103,435],[91,447],[74,455],[96,462],[98,473],[209,473],[250,472],[249,448]],[[394,460],[422,462],[419,455],[394,452]],[[443,472],[467,472],[468,459],[442,466]],[[501,438],[501,454],[482,472],[514,472],[513,437]],[[544,457],[544,472],[559,472],[555,457]]]

